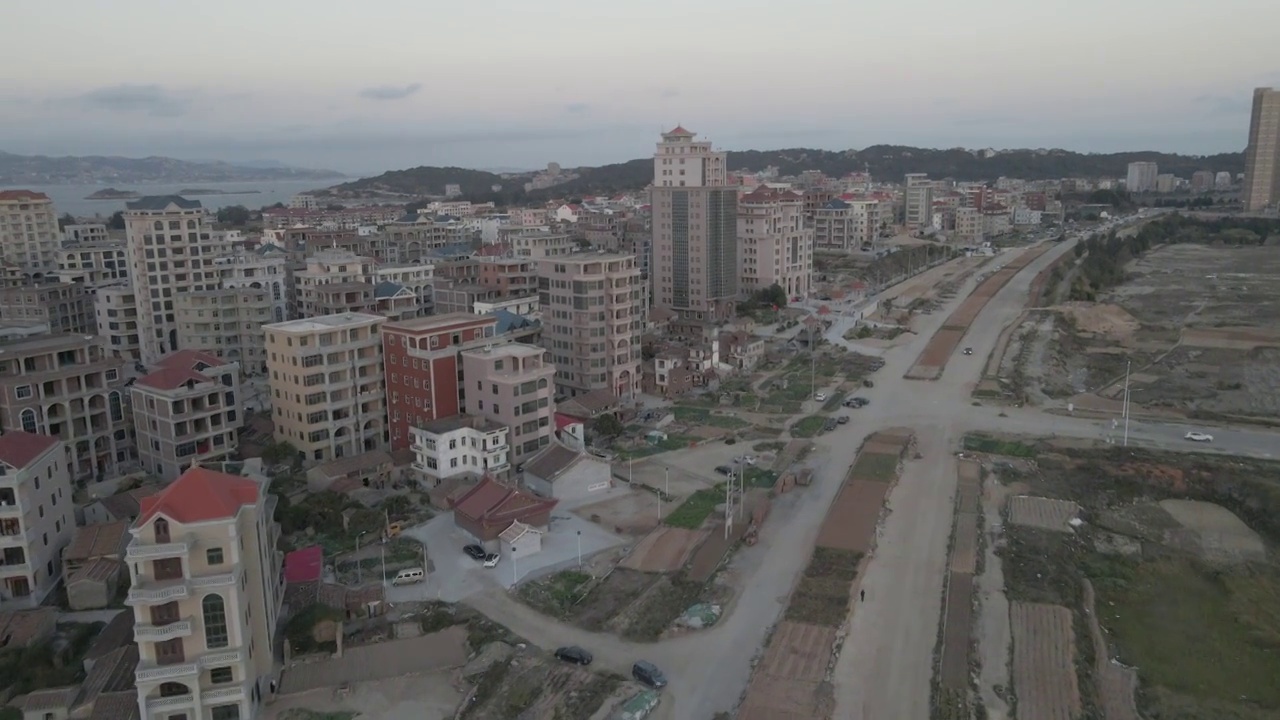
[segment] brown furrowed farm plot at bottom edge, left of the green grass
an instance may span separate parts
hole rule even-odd
[[[1071,611],[1060,605],[1010,603],[1014,692],[1019,717],[1071,720],[1080,714]]]

